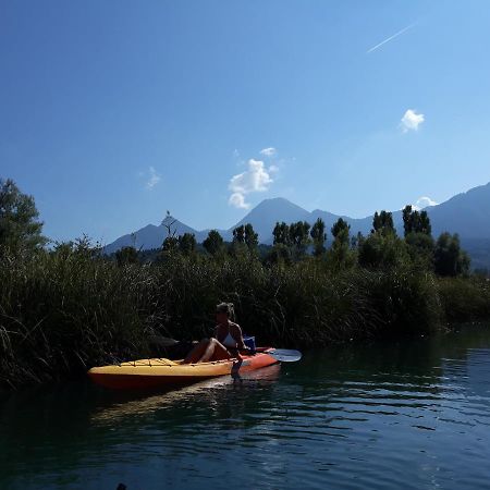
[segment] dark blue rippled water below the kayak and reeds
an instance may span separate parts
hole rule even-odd
[[[490,488],[490,328],[309,352],[167,394],[0,401],[0,489]]]

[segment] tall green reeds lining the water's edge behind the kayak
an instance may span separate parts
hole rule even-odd
[[[64,379],[151,355],[156,334],[209,335],[221,301],[235,304],[238,323],[259,344],[281,347],[429,333],[460,318],[481,291],[471,316],[490,317],[488,285],[454,281],[408,267],[332,271],[313,258],[266,267],[254,257],[179,254],[124,266],[83,250],[3,256],[0,384]],[[462,292],[466,299],[455,306]]]

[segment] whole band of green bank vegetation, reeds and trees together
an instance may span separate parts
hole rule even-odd
[[[209,335],[220,301],[259,344],[321,345],[428,334],[451,321],[490,318],[490,283],[469,273],[457,235],[431,236],[424,211],[390,212],[367,236],[340,219],[277,223],[259,247],[250,224],[232,243],[169,236],[154,254],[108,257],[86,237],[46,248],[34,199],[0,186],[0,378],[16,387],[155,355],[156,335]]]

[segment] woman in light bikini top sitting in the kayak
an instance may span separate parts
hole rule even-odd
[[[242,360],[241,351],[249,351],[245,345],[242,329],[234,320],[233,303],[220,303],[216,307],[215,338],[200,341],[182,364],[206,363],[236,358]]]

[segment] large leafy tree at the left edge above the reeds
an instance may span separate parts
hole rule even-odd
[[[33,196],[21,193],[14,181],[0,179],[0,248],[36,250],[48,241]]]

